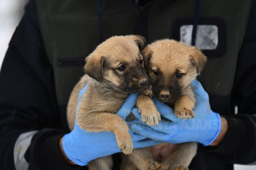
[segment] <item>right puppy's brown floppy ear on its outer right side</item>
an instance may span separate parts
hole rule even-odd
[[[191,47],[191,51],[190,60],[196,66],[197,74],[199,74],[207,62],[207,57],[196,47]]]

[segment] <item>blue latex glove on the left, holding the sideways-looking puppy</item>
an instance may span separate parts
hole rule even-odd
[[[79,102],[82,94],[86,92],[87,86],[88,84],[80,91]],[[131,113],[137,98],[138,95],[131,94],[116,114],[125,119]],[[77,108],[79,107],[79,102]],[[133,123],[139,122],[137,120],[133,121]],[[130,131],[130,135],[133,141],[133,148],[144,148],[159,143],[145,139],[146,137],[138,135],[133,131]],[[93,159],[120,152],[114,133],[86,132],[80,129],[76,122],[73,131],[63,137],[62,147],[67,157],[80,166],[87,165]]]

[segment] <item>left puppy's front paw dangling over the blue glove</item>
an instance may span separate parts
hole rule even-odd
[[[119,149],[126,155],[131,154],[133,149],[133,142],[130,135],[118,135],[116,136],[117,145]]]

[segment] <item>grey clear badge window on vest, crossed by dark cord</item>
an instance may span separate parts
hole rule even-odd
[[[183,25],[180,28],[180,39],[191,46],[193,25]],[[196,47],[201,50],[215,50],[218,46],[218,27],[215,25],[198,25]]]

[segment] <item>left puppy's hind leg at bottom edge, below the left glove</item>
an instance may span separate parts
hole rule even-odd
[[[94,159],[88,163],[89,170],[111,170],[113,166],[112,156]]]

